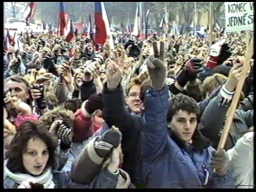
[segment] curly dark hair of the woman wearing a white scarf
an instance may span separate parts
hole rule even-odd
[[[27,144],[31,138],[42,139],[49,150],[47,166],[55,166],[55,150],[58,146],[57,138],[53,137],[41,121],[24,122],[7,150],[7,168],[13,173],[26,173],[22,163],[22,154],[26,151]]]

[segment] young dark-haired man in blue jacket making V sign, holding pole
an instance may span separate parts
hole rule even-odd
[[[145,94],[141,153],[147,188],[234,187],[233,170],[225,150],[215,151],[197,129],[200,107],[191,97],[178,94],[168,101],[164,87],[164,43],[156,44],[148,60],[152,82]],[[158,81],[154,81],[154,79]],[[167,117],[167,118],[166,118]],[[167,119],[167,120],[166,120]],[[213,172],[213,169],[216,172]]]

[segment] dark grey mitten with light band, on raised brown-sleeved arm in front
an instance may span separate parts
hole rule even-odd
[[[117,148],[121,142],[121,132],[109,129],[95,141],[95,151],[100,157],[111,155],[112,149]]]

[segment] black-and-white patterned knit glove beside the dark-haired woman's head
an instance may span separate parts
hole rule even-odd
[[[63,122],[57,131],[57,137],[60,139],[60,148],[67,150],[70,148],[73,137],[73,129],[69,128],[67,124]]]

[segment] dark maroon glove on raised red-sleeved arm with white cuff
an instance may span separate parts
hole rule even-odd
[[[92,114],[95,110],[97,109],[103,109],[103,102],[102,102],[102,97],[101,94],[92,94],[89,98],[88,101],[85,104],[85,110],[89,113]]]

